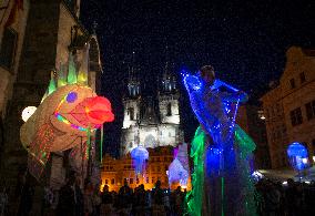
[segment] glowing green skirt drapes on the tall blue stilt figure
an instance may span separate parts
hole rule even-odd
[[[242,203],[243,212],[241,215],[254,216],[256,215],[256,208],[254,203],[254,186],[250,177],[250,166],[248,161],[252,157],[252,152],[255,150],[254,141],[238,126],[235,125],[234,132],[234,146],[237,152],[237,166],[241,171],[240,182],[242,189]],[[199,126],[194,138],[192,141],[191,157],[193,158],[193,168],[192,174],[192,185],[193,188],[186,195],[187,203],[187,215],[191,216],[201,216],[203,215],[204,206],[204,193],[207,193],[204,188],[204,178],[205,176],[205,164],[204,164],[204,153],[206,146],[206,134]],[[224,178],[221,178],[222,183],[222,196],[224,196]],[[211,214],[211,213],[210,213]],[[224,215],[224,209],[222,209],[222,215]]]

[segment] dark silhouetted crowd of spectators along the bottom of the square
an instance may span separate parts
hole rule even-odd
[[[145,191],[141,184],[132,189],[128,182],[119,192],[110,192],[104,185],[91,182],[80,187],[80,178],[69,177],[59,192],[51,192],[44,187],[41,204],[41,215],[67,216],[180,216],[184,215],[186,192],[177,187],[171,192],[161,188],[161,182],[155,183],[152,191]],[[24,181],[20,191],[19,205],[14,215],[31,215],[34,189],[33,185]],[[255,202],[260,216],[299,216],[315,215],[315,182],[275,182],[262,178],[255,184]],[[6,188],[0,192],[0,215],[6,214],[8,195]]]

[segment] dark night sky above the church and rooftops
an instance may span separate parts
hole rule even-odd
[[[98,23],[103,94],[111,100],[116,115],[105,131],[105,148],[113,154],[120,142],[122,96],[126,93],[133,51],[146,95],[156,93],[167,45],[175,75],[182,66],[196,71],[203,64],[212,64],[219,79],[246,91],[255,102],[267,91],[267,83],[282,74],[291,45],[315,48],[312,0],[82,0],[80,20],[90,31],[92,23]],[[180,79],[179,84],[189,142],[196,121]]]

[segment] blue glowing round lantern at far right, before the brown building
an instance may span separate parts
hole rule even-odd
[[[286,152],[292,167],[298,173],[308,167],[308,153],[303,144],[294,142]]]

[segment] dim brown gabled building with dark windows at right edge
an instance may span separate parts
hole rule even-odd
[[[315,50],[292,47],[278,84],[263,102],[273,168],[287,166],[286,150],[299,142],[315,155]]]

